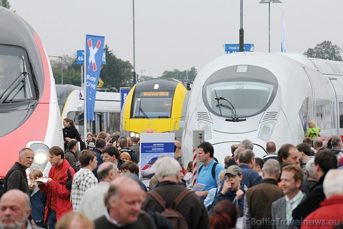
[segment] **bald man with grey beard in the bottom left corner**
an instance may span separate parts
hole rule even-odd
[[[30,200],[27,194],[12,189],[4,193],[0,199],[1,229],[42,229],[30,225],[27,219],[31,214]],[[29,227],[28,227],[29,226]]]

